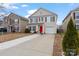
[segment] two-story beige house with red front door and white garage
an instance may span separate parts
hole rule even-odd
[[[31,16],[29,16],[28,27],[31,32],[42,31],[42,33],[56,33],[57,32],[57,15],[51,11],[39,8]]]

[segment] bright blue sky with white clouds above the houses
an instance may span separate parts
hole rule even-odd
[[[39,8],[44,8],[58,15],[57,24],[61,25],[67,14],[79,7],[78,3],[0,3],[0,6],[5,7],[5,11],[1,9],[0,14],[9,12],[16,13],[23,17],[28,17]]]

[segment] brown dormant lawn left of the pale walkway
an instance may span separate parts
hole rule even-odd
[[[16,38],[24,37],[31,35],[30,33],[6,33],[3,35],[0,35],[0,43],[9,41],[9,40],[14,40]]]

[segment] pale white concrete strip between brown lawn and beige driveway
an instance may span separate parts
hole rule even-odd
[[[15,39],[15,40],[0,43],[0,50],[11,48],[11,47],[16,46],[18,44],[21,44],[25,41],[29,41],[33,38],[36,38],[38,36],[39,36],[38,34],[33,34],[33,35],[30,35],[30,36],[21,37],[21,38]]]

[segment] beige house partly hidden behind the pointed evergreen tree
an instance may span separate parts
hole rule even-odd
[[[63,20],[62,28],[63,28],[64,32],[67,30],[67,25],[68,25],[70,18],[72,18],[72,20],[76,26],[76,29],[79,30],[79,8],[76,8],[76,9],[70,11],[70,13]]]

